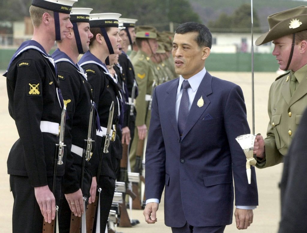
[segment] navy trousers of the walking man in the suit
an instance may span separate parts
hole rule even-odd
[[[183,227],[172,227],[173,233],[223,233],[226,226],[193,227],[188,222]]]

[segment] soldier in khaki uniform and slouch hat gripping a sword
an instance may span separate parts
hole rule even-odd
[[[268,101],[270,122],[267,137],[256,136],[254,154],[257,167],[283,161],[307,103],[307,6],[299,6],[268,16],[270,31],[256,45],[270,41],[272,54],[281,70],[289,70],[271,85]]]

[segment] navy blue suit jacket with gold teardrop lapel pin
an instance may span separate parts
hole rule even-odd
[[[175,102],[179,78],[154,90],[146,148],[146,198],[165,187],[165,224],[231,224],[235,205],[258,205],[255,169],[235,138],[250,133],[241,88],[208,72],[197,89],[180,139]],[[204,105],[197,106],[202,96]]]

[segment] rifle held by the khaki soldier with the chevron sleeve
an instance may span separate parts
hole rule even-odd
[[[146,115],[145,115],[145,120],[147,118],[147,115],[149,113],[149,111],[151,111],[151,103],[152,103],[152,98],[153,98],[153,90],[156,86],[156,81],[153,81],[153,84],[151,86],[151,97],[148,103],[148,108],[146,111]],[[147,136],[146,136],[147,137]],[[137,172],[140,174],[140,179],[142,180],[142,182],[145,183],[145,178],[142,175],[142,171],[143,171],[143,166],[142,166],[142,159],[143,159],[143,155],[144,155],[144,145],[145,145],[145,139],[138,139],[138,145],[136,148],[136,156],[135,156],[135,166],[134,166],[134,172]],[[139,183],[132,183],[132,191],[136,194],[136,198],[132,201],[132,208],[133,209],[142,209],[142,205],[141,205],[141,199],[139,196],[139,192],[138,192],[138,184]]]

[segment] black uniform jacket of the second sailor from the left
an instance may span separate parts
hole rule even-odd
[[[66,105],[69,119],[65,124],[65,144],[67,145],[67,161],[64,175],[64,193],[73,193],[79,190],[76,167],[81,167],[82,157],[71,151],[71,147],[84,147],[84,140],[87,139],[90,111],[93,96],[90,84],[87,82],[85,71],[69,58],[64,52],[57,49],[53,54],[57,66],[60,88]],[[94,111],[95,114],[95,111]],[[96,139],[95,122],[92,123],[92,139]],[[92,145],[95,148],[95,145]],[[85,161],[85,167],[89,163]],[[78,169],[79,171],[80,169]],[[85,172],[89,172],[85,169]],[[91,174],[87,174],[91,175]]]

